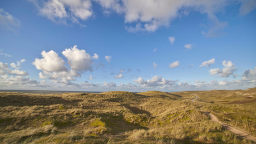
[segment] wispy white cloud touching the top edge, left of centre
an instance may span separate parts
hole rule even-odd
[[[79,19],[85,21],[92,16],[91,1],[66,1],[66,0],[49,0],[47,2],[28,0],[38,9],[41,16],[50,19],[56,23],[71,21],[78,23]],[[82,24],[80,24],[83,26]]]

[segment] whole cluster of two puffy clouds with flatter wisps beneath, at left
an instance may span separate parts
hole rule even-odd
[[[71,68],[68,69],[65,66],[65,61],[58,56],[58,53],[54,51],[43,51],[41,54],[43,58],[36,58],[32,63],[37,69],[43,71],[39,73],[39,78],[47,78],[53,83],[72,87],[81,87],[80,84],[78,85],[77,83],[71,81],[76,81],[75,77],[81,77],[81,73],[83,72],[92,71],[92,59],[99,59],[99,56],[96,53],[91,56],[90,54],[86,53],[85,50],[78,49],[77,46],[74,46],[65,49],[65,51],[62,52],[63,56],[65,56],[68,60],[68,66]],[[97,66],[96,68],[105,65],[99,63]],[[96,77],[91,77],[91,79],[92,78]]]

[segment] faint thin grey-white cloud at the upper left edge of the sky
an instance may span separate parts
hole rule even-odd
[[[17,18],[13,17],[12,14],[9,14],[0,8],[0,27],[16,33],[17,29],[21,27],[21,22]],[[6,56],[9,55],[6,54]]]

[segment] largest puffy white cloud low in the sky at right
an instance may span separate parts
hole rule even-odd
[[[222,70],[219,68],[210,69],[210,76],[217,75],[219,73],[220,77],[229,77],[230,75],[233,75],[234,71],[237,70],[237,67],[235,67],[234,63],[231,61],[223,61],[222,64],[224,66]]]

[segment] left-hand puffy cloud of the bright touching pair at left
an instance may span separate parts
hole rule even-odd
[[[58,57],[58,53],[55,51],[42,51],[41,55],[43,58],[36,58],[35,61],[32,62],[37,69],[48,72],[68,71],[65,66],[65,61],[61,57]]]

